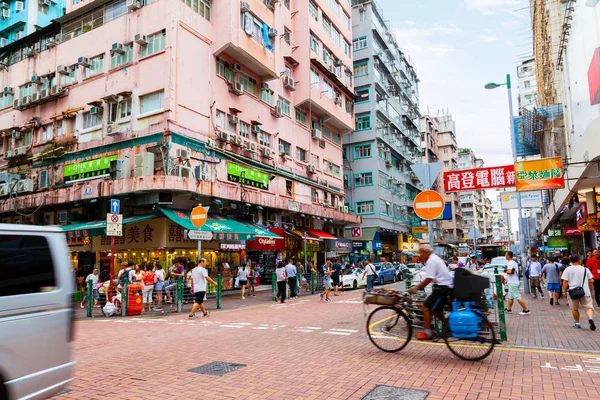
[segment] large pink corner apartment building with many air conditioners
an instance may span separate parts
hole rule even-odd
[[[82,224],[120,198],[125,216],[201,202],[341,236],[359,222],[341,171],[354,129],[350,7],[69,4],[0,52],[0,220]]]

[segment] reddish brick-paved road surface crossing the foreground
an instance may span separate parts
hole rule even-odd
[[[332,297],[332,303],[314,295],[275,304],[269,295],[237,300],[235,307],[197,320],[171,314],[78,321],[75,377],[70,391],[57,398],[361,399],[378,385],[412,389],[417,397],[407,398],[428,400],[600,398],[594,385],[600,352],[569,347],[597,342],[589,330],[565,328],[558,335],[565,336],[560,350],[527,343],[509,330],[509,343],[482,362],[417,341],[388,354],[366,336],[360,291]],[[530,307],[535,314],[544,305]],[[564,318],[563,311],[550,312]],[[538,328],[553,331],[542,311],[537,317],[509,315],[508,325],[525,329],[525,336]],[[222,376],[191,372],[213,362],[240,366]]]

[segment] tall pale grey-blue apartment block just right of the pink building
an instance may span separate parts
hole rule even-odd
[[[356,3],[352,51],[357,100],[354,132],[344,137],[346,201],[363,218],[363,226],[376,228],[379,250],[389,258],[407,240],[415,220],[412,202],[421,190],[410,168],[420,162],[419,79],[376,3]]]

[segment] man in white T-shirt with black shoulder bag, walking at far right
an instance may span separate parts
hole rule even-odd
[[[569,295],[569,307],[575,328],[581,328],[579,323],[579,306],[581,306],[588,317],[590,329],[595,331],[596,324],[594,323],[594,302],[592,301],[592,290],[594,277],[589,269],[581,265],[581,257],[573,254],[570,258],[571,266],[563,272],[563,295]]]

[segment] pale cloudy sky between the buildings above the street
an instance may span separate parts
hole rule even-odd
[[[507,90],[483,86],[511,74],[518,113],[517,66],[532,54],[529,1],[375,1],[416,68],[421,113],[452,114],[459,148],[473,149],[485,166],[512,164]]]

